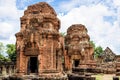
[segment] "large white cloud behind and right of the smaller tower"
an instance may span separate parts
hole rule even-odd
[[[111,21],[104,20],[105,16],[117,17],[117,14],[101,3],[71,8],[67,14],[58,15],[62,25],[60,31],[66,32],[72,24],[84,24],[89,31],[91,40],[96,45],[100,45],[104,49],[108,46],[115,53],[120,54],[120,48],[118,47],[120,45],[119,21],[115,20],[112,24]]]

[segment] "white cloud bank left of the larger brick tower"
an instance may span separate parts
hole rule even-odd
[[[15,43],[13,36],[18,32],[20,16],[23,10],[18,10],[16,0],[0,0],[0,41],[7,43]]]

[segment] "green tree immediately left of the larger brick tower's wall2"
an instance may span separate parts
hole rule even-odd
[[[8,54],[8,58],[11,61],[16,61],[16,49],[14,44],[7,44],[6,45],[6,53]]]

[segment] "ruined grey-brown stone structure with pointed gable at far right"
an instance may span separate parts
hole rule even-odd
[[[120,70],[119,55],[116,55],[109,47],[97,59],[96,69],[102,73],[116,73]]]

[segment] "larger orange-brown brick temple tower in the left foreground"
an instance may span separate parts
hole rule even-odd
[[[20,20],[21,30],[16,33],[17,72],[22,75],[62,72],[60,21],[54,9],[40,2],[28,6]]]

